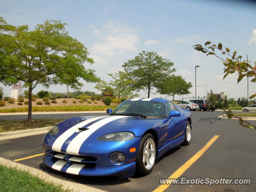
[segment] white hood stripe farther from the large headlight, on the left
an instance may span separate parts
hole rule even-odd
[[[73,127],[69,128],[68,130],[66,130],[64,133],[61,134],[61,136],[59,136],[53,143],[52,145],[52,150],[57,151],[57,152],[61,152],[61,147],[64,144],[64,142],[66,141],[67,137],[70,137],[76,130],[77,128],[81,128],[87,124],[89,124],[90,122],[93,122],[97,119],[100,118],[104,118],[106,116],[100,116],[100,117],[94,117],[88,120],[85,120],[83,122],[80,122],[76,125],[74,125]]]

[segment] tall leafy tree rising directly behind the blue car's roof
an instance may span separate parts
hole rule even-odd
[[[154,51],[139,53],[134,59],[125,62],[123,67],[125,72],[130,74],[130,78],[136,81],[134,88],[148,92],[148,98],[152,88],[162,82],[176,69],[170,60],[162,58]]]

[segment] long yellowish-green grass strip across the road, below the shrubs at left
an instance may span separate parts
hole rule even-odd
[[[51,111],[105,111],[108,108],[116,108],[117,105],[112,106],[88,106],[88,105],[73,105],[73,106],[42,106],[32,107],[32,112],[51,112]],[[28,112],[28,107],[0,109],[0,113],[14,113],[14,112]]]

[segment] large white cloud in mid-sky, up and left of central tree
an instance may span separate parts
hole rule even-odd
[[[94,54],[104,54],[114,56],[123,51],[136,50],[136,44],[139,40],[136,34],[132,34],[132,29],[115,25],[109,21],[106,27],[110,29],[108,36],[103,37],[102,43],[96,43],[92,46]]]

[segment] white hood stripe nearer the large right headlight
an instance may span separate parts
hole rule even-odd
[[[73,155],[79,155],[80,147],[82,146],[83,142],[97,129],[101,128],[102,126],[106,125],[109,122],[112,122],[114,120],[124,118],[127,116],[112,116],[105,119],[102,119],[90,126],[88,126],[88,130],[80,132],[68,145],[68,148],[66,150],[66,153],[73,154]]]

